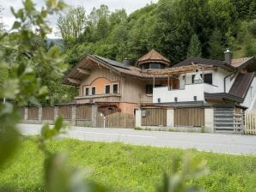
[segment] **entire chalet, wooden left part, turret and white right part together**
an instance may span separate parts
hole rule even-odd
[[[137,67],[90,55],[64,83],[79,87],[76,103],[97,105],[105,115],[137,110],[137,126],[241,129],[243,112],[255,108],[256,60],[224,54],[224,61],[191,57],[171,68],[154,50]]]

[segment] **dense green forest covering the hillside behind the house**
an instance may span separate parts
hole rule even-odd
[[[125,9],[111,12],[107,5],[90,13],[70,7],[58,17],[58,31],[66,73],[88,54],[117,61],[127,57],[132,65],[152,49],[171,65],[186,57],[222,60],[227,47],[235,58],[251,57],[256,56],[256,0],[159,0],[131,15]],[[76,96],[75,87],[61,84],[62,77],[46,76],[42,83],[50,95],[42,103],[70,102]]]

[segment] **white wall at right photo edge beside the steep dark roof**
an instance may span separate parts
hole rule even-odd
[[[249,87],[249,90],[247,92],[246,98],[241,105],[248,107],[248,111],[256,111],[255,102],[256,102],[256,78],[254,77],[251,87]]]

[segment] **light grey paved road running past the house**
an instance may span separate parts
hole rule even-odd
[[[23,135],[40,135],[41,127],[42,125],[38,124],[19,124]],[[67,134],[62,136],[82,141],[119,141],[143,146],[195,148],[198,151],[215,153],[256,155],[256,136],[253,135],[178,133],[73,126],[70,127]]]

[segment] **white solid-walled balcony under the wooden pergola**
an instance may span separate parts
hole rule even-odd
[[[172,89],[168,87],[155,87],[153,89],[153,103],[182,103],[204,102],[204,93],[220,93],[221,90],[207,83],[188,84],[184,89]]]

